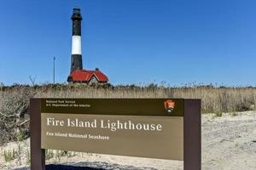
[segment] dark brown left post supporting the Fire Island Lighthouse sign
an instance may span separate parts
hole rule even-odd
[[[31,170],[45,170],[45,150],[41,149],[41,99],[30,99]]]

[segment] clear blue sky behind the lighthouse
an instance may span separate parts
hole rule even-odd
[[[9,0],[0,5],[0,82],[66,82],[73,7],[84,69],[113,84],[256,85],[256,2]]]

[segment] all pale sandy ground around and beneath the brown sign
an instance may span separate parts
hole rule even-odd
[[[202,115],[202,169],[254,170],[256,169],[256,111]],[[4,150],[18,150],[20,159],[5,162]],[[0,169],[29,169],[29,140],[9,143],[0,149]],[[55,154],[56,155],[56,154]],[[68,156],[54,156],[47,160],[48,169],[73,169],[65,167],[93,167],[101,169],[172,170],[183,169],[183,161],[148,159],[128,156],[108,156],[69,152]],[[59,167],[59,168],[57,168]],[[52,168],[50,168],[52,169]],[[82,168],[81,168],[82,169]],[[89,169],[89,168],[87,168]]]

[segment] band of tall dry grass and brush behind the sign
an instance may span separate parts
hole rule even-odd
[[[29,99],[40,98],[184,98],[201,99],[202,113],[249,111],[255,109],[256,88],[215,88],[212,85],[169,87],[149,84],[85,86],[82,84],[14,85],[0,88],[0,144],[26,138]]]

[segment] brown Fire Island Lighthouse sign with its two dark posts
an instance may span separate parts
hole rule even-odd
[[[198,170],[201,100],[31,99],[31,147],[32,170],[44,169],[44,149],[184,160]]]

